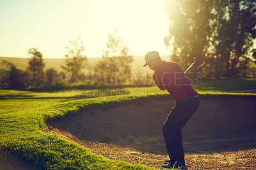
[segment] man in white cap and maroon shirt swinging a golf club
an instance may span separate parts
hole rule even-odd
[[[157,51],[145,55],[146,64],[154,70],[153,79],[161,90],[167,90],[177,102],[162,127],[164,142],[170,160],[164,160],[163,169],[186,168],[182,148],[182,128],[199,106],[198,93],[192,88],[177,63],[162,61]]]

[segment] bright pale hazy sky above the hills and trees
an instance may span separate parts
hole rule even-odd
[[[65,58],[77,36],[88,58],[100,57],[115,29],[132,56],[170,54],[162,0],[0,0],[0,23],[3,57],[28,58],[37,48],[44,58]]]

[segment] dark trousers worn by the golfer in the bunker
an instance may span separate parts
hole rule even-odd
[[[177,101],[162,127],[166,150],[172,162],[184,161],[181,130],[198,106],[198,97]]]

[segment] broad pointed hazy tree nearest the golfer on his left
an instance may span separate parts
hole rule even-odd
[[[103,50],[102,60],[94,68],[95,73],[99,74],[99,81],[108,84],[122,84],[131,73],[132,56],[128,55],[129,49],[123,39],[118,36],[115,29],[108,36],[106,49]]]

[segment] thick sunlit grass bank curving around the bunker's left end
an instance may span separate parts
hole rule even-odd
[[[24,105],[27,105],[28,109],[17,108],[12,112],[1,112],[1,150],[8,150],[25,158],[38,169],[153,169],[95,155],[76,143],[40,131],[40,128],[45,127],[46,120],[63,118],[92,107],[131,102],[136,98],[138,100],[140,97],[124,95],[74,100],[39,109],[29,108],[27,101]]]

